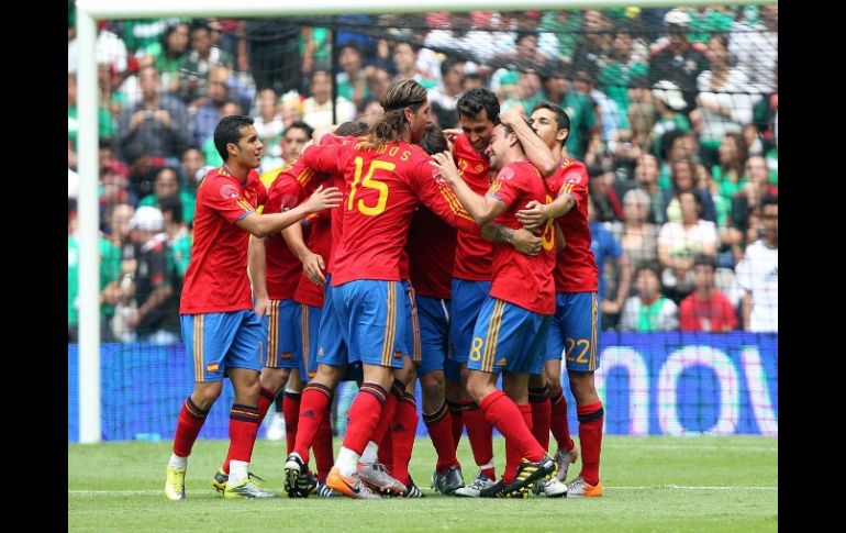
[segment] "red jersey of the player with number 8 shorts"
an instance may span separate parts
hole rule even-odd
[[[553,201],[546,181],[528,160],[509,163],[491,184],[488,195],[508,206],[496,222],[505,227],[523,225],[515,214],[532,200]],[[539,314],[555,313],[555,229],[547,224],[541,252],[530,257],[510,244],[493,243],[493,279],[490,296]]]

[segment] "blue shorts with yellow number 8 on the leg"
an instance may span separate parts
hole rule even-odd
[[[538,374],[553,317],[489,297],[481,308],[467,368],[492,374]]]

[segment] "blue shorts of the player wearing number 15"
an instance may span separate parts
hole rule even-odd
[[[356,279],[335,287],[332,298],[349,362],[402,368],[400,340],[409,327],[402,284]]]

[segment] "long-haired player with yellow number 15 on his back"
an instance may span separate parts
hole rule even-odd
[[[358,468],[364,448],[389,420],[388,389],[401,368],[398,340],[408,318],[401,312],[400,260],[409,223],[422,200],[450,224],[472,231],[472,221],[428,166],[419,142],[430,122],[426,91],[416,81],[391,84],[380,100],[385,113],[367,137],[342,146],[312,146],[303,153],[318,171],[344,173],[343,247],[335,257],[333,303],[349,355],[360,357],[364,384],[349,410],[344,445],[326,485],[350,498],[375,498]],[[400,388],[399,393],[402,393]],[[396,390],[394,390],[396,396]],[[381,418],[381,421],[380,421]],[[404,492],[401,490],[400,492]]]

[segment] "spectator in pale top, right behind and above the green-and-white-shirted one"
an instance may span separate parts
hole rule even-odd
[[[652,157],[652,156],[644,156]],[[623,195],[623,222],[612,222],[611,233],[620,242],[623,252],[637,270],[658,260],[658,226],[649,223],[649,195],[641,189],[630,189]]]

